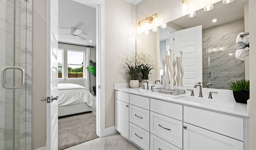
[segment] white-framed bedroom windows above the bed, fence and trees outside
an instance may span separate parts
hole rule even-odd
[[[85,52],[58,49],[58,78],[84,78]]]

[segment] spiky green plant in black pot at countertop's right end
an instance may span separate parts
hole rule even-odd
[[[247,104],[250,98],[250,81],[240,79],[228,83],[228,88],[233,91],[233,96],[236,102]]]

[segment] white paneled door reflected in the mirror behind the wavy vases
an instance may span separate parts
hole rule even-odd
[[[183,86],[194,86],[202,82],[202,26],[174,32],[174,54],[183,51]]]

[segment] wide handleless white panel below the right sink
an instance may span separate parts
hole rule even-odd
[[[244,141],[244,119],[184,106],[184,122]]]

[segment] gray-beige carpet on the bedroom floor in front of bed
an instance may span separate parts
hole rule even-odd
[[[98,138],[96,134],[96,112],[59,117],[58,149],[63,150]]]

